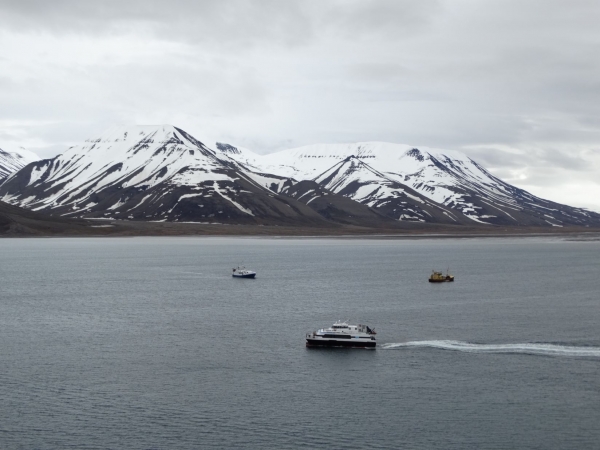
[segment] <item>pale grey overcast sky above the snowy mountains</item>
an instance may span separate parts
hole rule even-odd
[[[600,211],[599,23],[596,0],[0,0],[0,148],[395,142]]]

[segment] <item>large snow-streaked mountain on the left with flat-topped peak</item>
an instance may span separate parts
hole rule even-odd
[[[67,217],[323,222],[251,175],[171,125],[116,127],[13,173],[0,185],[0,200]]]

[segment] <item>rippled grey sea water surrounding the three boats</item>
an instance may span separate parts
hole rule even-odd
[[[2,449],[600,448],[599,372],[600,242],[0,240]]]

